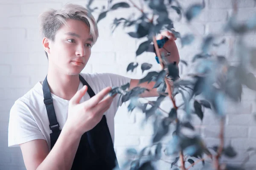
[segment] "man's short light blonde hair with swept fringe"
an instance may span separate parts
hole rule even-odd
[[[99,37],[96,20],[88,9],[72,3],[64,5],[59,10],[49,9],[39,15],[40,32],[42,36],[54,42],[56,32],[61,26],[67,24],[66,21],[68,19],[79,20],[86,23],[90,28],[90,35],[93,37],[93,44],[95,44]],[[47,55],[46,51],[45,53]]]

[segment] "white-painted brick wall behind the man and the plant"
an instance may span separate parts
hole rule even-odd
[[[85,5],[88,0],[77,0],[73,3]],[[106,5],[107,0],[95,0],[93,7]],[[121,0],[119,0],[121,1]],[[126,0],[123,0],[126,1]],[[186,26],[186,23],[174,23],[174,26],[181,35],[186,33],[196,33],[200,37],[209,33],[220,33],[222,24],[227,21],[231,14],[232,1],[234,0],[204,0],[206,8],[203,13],[198,16],[192,23],[192,29]],[[239,20],[246,20],[256,12],[255,0],[237,0]],[[139,4],[137,0],[135,3]],[[202,2],[202,0],[180,0],[182,6],[187,8],[190,4]],[[38,14],[47,8],[59,8],[69,0],[1,0],[0,2],[0,170],[24,170],[24,163],[19,148],[7,147],[9,110],[14,101],[32,88],[36,82],[43,80],[47,73],[47,58],[45,57],[41,37],[39,35]],[[136,9],[132,9],[139,14]],[[92,48],[92,55],[83,72],[110,72],[121,74],[132,78],[141,78],[140,69],[133,73],[126,73],[126,67],[130,62],[149,62],[153,64],[151,70],[159,70],[154,59],[154,54],[144,53],[139,57],[135,57],[135,51],[143,40],[134,40],[130,38],[121,28],[111,34],[110,24],[114,17],[127,17],[128,12],[118,10],[109,13],[107,17],[99,23],[99,40]],[[95,14],[97,18],[98,14]],[[177,15],[173,15],[177,18]],[[177,40],[181,59],[191,61],[194,54],[198,53],[200,48],[200,37],[196,38],[196,42],[192,46],[181,48],[180,40]],[[227,42],[236,41],[236,37],[230,33],[224,35]],[[222,38],[221,38],[222,40]],[[221,41],[220,40],[220,41]],[[245,37],[248,45],[256,45],[255,32]],[[215,50],[215,49],[213,49]],[[216,54],[230,54],[228,43],[222,45],[221,48],[215,50]],[[228,57],[228,56],[227,56]],[[228,57],[233,61],[231,57]],[[180,72],[186,74],[186,68],[180,65]],[[154,99],[154,98],[153,98]],[[239,156],[235,159],[224,159],[224,161],[239,164],[244,156],[247,155],[245,150],[251,146],[256,147],[256,122],[252,113],[256,111],[255,93],[245,88],[242,94],[242,103],[244,110],[236,110],[236,108],[227,109],[227,119],[225,127],[225,145],[232,144],[239,152]],[[239,113],[236,113],[239,112]],[[145,125],[144,129],[140,128],[143,114],[127,113],[127,108],[122,105],[116,113],[115,124],[115,150],[119,161],[122,160],[126,147],[135,147],[137,149],[150,144],[153,136],[153,129],[150,123]],[[195,117],[194,124],[199,126],[204,136],[207,146],[211,147],[218,144],[218,120],[211,113],[206,111],[204,121]],[[199,130],[200,129],[200,130]],[[170,136],[171,137],[171,132]],[[167,137],[168,138],[168,137]],[[167,139],[165,139],[167,141]],[[173,158],[164,158],[172,161]],[[249,161],[248,169],[256,166],[256,157],[252,157]],[[169,169],[170,164],[160,161],[159,169]],[[198,167],[198,166],[196,166]],[[197,169],[197,168],[194,169]]]

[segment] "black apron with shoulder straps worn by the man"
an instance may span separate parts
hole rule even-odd
[[[90,85],[88,85],[81,75],[79,75],[79,79],[83,85],[87,85],[87,93],[90,97],[93,97],[95,93]],[[44,104],[50,123],[49,128],[52,130],[52,133],[50,134],[52,150],[61,130],[59,129],[59,124],[55,115],[47,77],[45,77],[43,82],[43,92]],[[108,129],[106,116],[104,115],[101,121],[92,130],[87,131],[81,136],[71,170],[113,170],[116,166],[118,166],[116,153]]]

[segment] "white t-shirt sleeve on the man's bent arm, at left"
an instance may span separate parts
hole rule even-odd
[[[17,100],[10,110],[8,127],[8,147],[35,139],[45,139],[29,108],[24,102]]]

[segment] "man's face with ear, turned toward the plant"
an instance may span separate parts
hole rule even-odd
[[[67,20],[67,26],[56,32],[55,41],[49,42],[49,64],[64,74],[78,75],[90,58],[92,43],[86,23]]]

